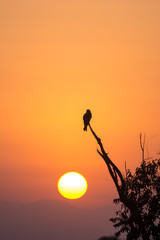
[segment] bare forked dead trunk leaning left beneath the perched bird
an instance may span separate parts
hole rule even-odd
[[[138,224],[140,229],[141,229],[143,239],[144,240],[149,240],[149,237],[148,237],[143,219],[138,212],[138,208],[136,206],[136,203],[132,199],[128,199],[128,197],[127,197],[127,190],[126,190],[126,186],[125,186],[125,181],[124,181],[124,178],[122,176],[121,171],[118,169],[118,167],[108,157],[108,154],[105,152],[104,147],[102,145],[101,139],[93,131],[90,124],[89,124],[89,128],[90,128],[93,136],[97,140],[98,145],[100,146],[100,151],[97,149],[97,152],[103,158],[103,160],[105,161],[105,163],[108,167],[109,173],[110,173],[110,175],[112,177],[112,180],[113,180],[113,182],[116,186],[116,189],[118,191],[120,201],[130,210],[130,212],[131,212],[131,214],[134,218],[134,222],[136,224]],[[143,157],[144,157],[144,154],[143,154]]]

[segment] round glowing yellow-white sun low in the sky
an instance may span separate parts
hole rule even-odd
[[[77,172],[68,172],[62,175],[58,181],[58,191],[69,199],[82,197],[87,191],[86,179]]]

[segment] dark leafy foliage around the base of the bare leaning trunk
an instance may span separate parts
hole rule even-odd
[[[125,186],[126,196],[135,202],[136,208],[145,224],[150,239],[160,239],[160,159],[142,160],[140,167],[134,174],[126,170]],[[114,200],[121,204],[121,210],[116,212],[116,217],[110,221],[115,228],[120,228],[116,233],[119,236],[127,232],[127,239],[140,239],[142,237],[140,226],[134,221],[133,213],[120,198]]]

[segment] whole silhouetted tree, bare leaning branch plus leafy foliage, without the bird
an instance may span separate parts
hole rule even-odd
[[[88,126],[100,147],[100,150],[97,149],[97,152],[105,161],[116,186],[119,198],[114,200],[114,202],[122,203],[122,210],[117,212],[117,217],[115,219],[112,218],[112,222],[115,223],[114,226],[121,227],[116,235],[118,236],[123,232],[127,232],[127,239],[141,238],[144,240],[150,240],[151,235],[153,239],[158,239],[160,234],[159,222],[157,225],[157,221],[159,221],[160,217],[160,178],[158,176],[160,161],[158,160],[156,162],[155,160],[152,163],[146,163],[144,160],[145,137],[142,143],[142,135],[140,135],[142,165],[140,168],[136,169],[135,175],[132,175],[130,170],[127,170],[127,176],[124,178],[118,167],[108,157],[101,139],[93,131],[90,122],[88,123]],[[147,177],[145,176],[146,171]],[[147,205],[146,200],[149,201],[149,205]],[[143,207],[146,206],[148,206],[149,209],[143,209]],[[150,217],[151,219],[149,220]]]

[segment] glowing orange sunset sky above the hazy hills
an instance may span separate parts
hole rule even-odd
[[[59,177],[77,171],[88,192],[73,204],[112,202],[87,108],[120,170],[139,165],[140,131],[157,157],[159,12],[159,0],[1,1],[0,199],[61,199]]]

